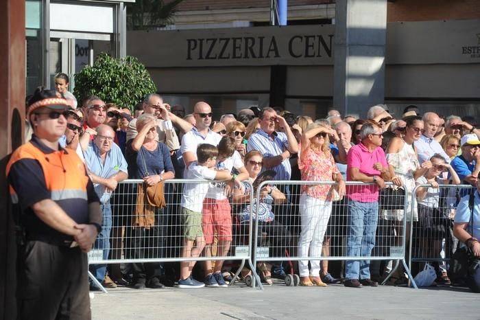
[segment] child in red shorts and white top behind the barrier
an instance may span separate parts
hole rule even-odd
[[[237,187],[241,186],[241,181],[248,179],[248,172],[241,161],[241,156],[235,147],[235,139],[223,137],[218,144],[218,161],[215,170],[226,171],[228,174],[235,168],[239,172],[238,176],[233,174],[232,183]],[[232,191],[235,184],[232,183],[211,183],[206,194],[203,205],[203,231],[205,236],[205,255],[212,256],[211,244],[213,244],[214,233],[218,235],[217,256],[224,257],[230,250],[232,242],[232,214],[228,194]],[[226,287],[224,277],[221,275],[221,267],[224,260],[217,260],[215,268],[212,271],[211,261],[205,263],[205,284],[210,287]]]

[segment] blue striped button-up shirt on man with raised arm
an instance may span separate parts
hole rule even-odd
[[[272,140],[265,131],[259,129],[248,138],[247,151],[259,150],[263,157],[271,158],[280,155],[287,149],[287,146],[288,140],[285,133],[274,132],[274,139]],[[285,159],[272,168],[266,168],[264,165],[260,173],[266,170],[274,170],[276,180],[290,180],[291,165],[289,159]]]

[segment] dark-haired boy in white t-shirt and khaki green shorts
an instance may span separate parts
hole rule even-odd
[[[189,165],[185,179],[207,179],[230,181],[232,175],[226,170],[215,171],[215,161],[218,149],[211,144],[201,144],[197,148],[197,161]],[[205,246],[202,232],[202,203],[208,191],[208,183],[186,183],[182,194],[182,225],[184,225],[184,245],[182,258],[197,258]],[[195,247],[193,244],[195,243]],[[202,288],[203,282],[198,282],[191,276],[195,261],[180,262],[180,288]]]

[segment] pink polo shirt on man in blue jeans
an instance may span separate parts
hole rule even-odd
[[[373,165],[377,162],[381,163],[383,167],[388,166],[382,148],[377,147],[370,152],[361,143],[352,146],[347,155],[347,181],[352,181],[350,174],[348,174],[349,168],[359,168],[360,172],[367,176],[380,176],[380,171],[373,168]],[[346,193],[348,198],[354,201],[365,203],[379,201],[379,187],[376,185],[347,185]]]

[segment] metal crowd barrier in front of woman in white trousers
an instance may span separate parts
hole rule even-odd
[[[363,220],[361,223],[365,230],[368,230],[370,240],[369,243],[361,242],[355,244],[357,238],[348,236],[350,221],[348,214],[348,201],[346,196],[338,201],[333,202],[331,209],[322,203],[307,200],[304,196],[305,186],[328,186],[335,187],[336,183],[322,181],[264,181],[256,188],[256,199],[265,198],[265,192],[269,187],[276,187],[277,190],[285,194],[285,201],[276,201],[271,203],[272,212],[274,212],[274,220],[265,220],[259,218],[261,214],[255,212],[254,219],[254,255],[253,264],[269,262],[274,266],[278,264],[288,264],[287,277],[285,283],[287,285],[297,285],[300,278],[296,275],[296,266],[293,262],[301,260],[328,260],[328,261],[378,261],[378,260],[394,260],[396,266],[386,277],[394,274],[396,268],[401,263],[405,268],[405,272],[409,275],[409,279],[413,280],[409,266],[405,261],[405,243],[407,230],[407,196],[403,196],[404,208],[399,210],[396,221],[396,233],[378,233],[378,218],[381,210],[378,209],[370,220]],[[365,187],[375,185],[374,183],[347,182],[347,192],[355,192],[357,187]],[[387,187],[392,187],[392,183],[386,183]],[[272,193],[274,194],[274,193]],[[394,197],[393,195],[391,197]],[[265,198],[266,199],[266,198]],[[388,197],[385,197],[389,201]],[[394,200],[393,198],[391,199]],[[270,201],[271,202],[271,201]],[[376,202],[378,203],[378,201]],[[305,208],[309,208],[308,212]],[[320,209],[322,208],[322,209]],[[302,223],[303,220],[303,223]],[[365,222],[365,223],[364,223]],[[302,226],[303,224],[303,226]],[[313,229],[312,225],[315,225]],[[303,227],[303,228],[302,228]],[[322,245],[318,242],[315,246],[310,246],[309,240],[320,239],[320,241],[328,242],[326,252],[328,255],[322,254]],[[373,237],[373,239],[372,239]],[[365,240],[365,238],[363,239]],[[318,247],[320,245],[320,248]],[[348,247],[351,247],[348,253]],[[324,249],[325,250],[325,249]],[[370,254],[371,250],[371,254]],[[301,251],[301,254],[299,253]],[[306,252],[307,251],[307,252]],[[358,252],[357,252],[358,251]],[[357,253],[355,253],[357,252]],[[358,255],[358,253],[360,253]],[[355,256],[353,256],[355,255]],[[308,265],[308,262],[307,262]],[[254,284],[253,284],[254,285]],[[417,288],[414,281],[412,285]]]

